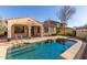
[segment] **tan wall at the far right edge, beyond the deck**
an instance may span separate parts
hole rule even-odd
[[[76,28],[76,36],[85,39],[87,35],[87,28]]]

